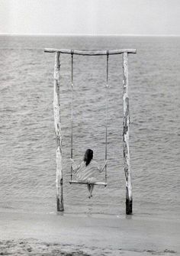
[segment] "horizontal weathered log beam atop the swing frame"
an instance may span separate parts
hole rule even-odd
[[[76,54],[76,55],[88,55],[88,56],[99,56],[99,55],[114,55],[122,53],[137,53],[136,49],[120,49],[120,50],[69,50],[69,49],[53,49],[45,48],[45,53],[65,53],[65,54]]]

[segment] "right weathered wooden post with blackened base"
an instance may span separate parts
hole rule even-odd
[[[126,214],[133,212],[132,184],[130,177],[130,106],[128,97],[128,53],[123,53],[123,141],[124,141],[124,173],[126,177]]]

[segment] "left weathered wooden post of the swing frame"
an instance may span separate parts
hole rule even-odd
[[[62,170],[62,133],[60,121],[60,101],[59,101],[59,70],[60,53],[56,53],[54,66],[54,127],[56,132],[56,204],[57,211],[63,212],[63,170]]]

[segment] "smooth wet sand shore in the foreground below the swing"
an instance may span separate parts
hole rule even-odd
[[[179,255],[180,221],[0,212],[1,255]]]

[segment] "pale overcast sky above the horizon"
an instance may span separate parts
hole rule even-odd
[[[180,0],[0,0],[1,34],[180,34]]]

